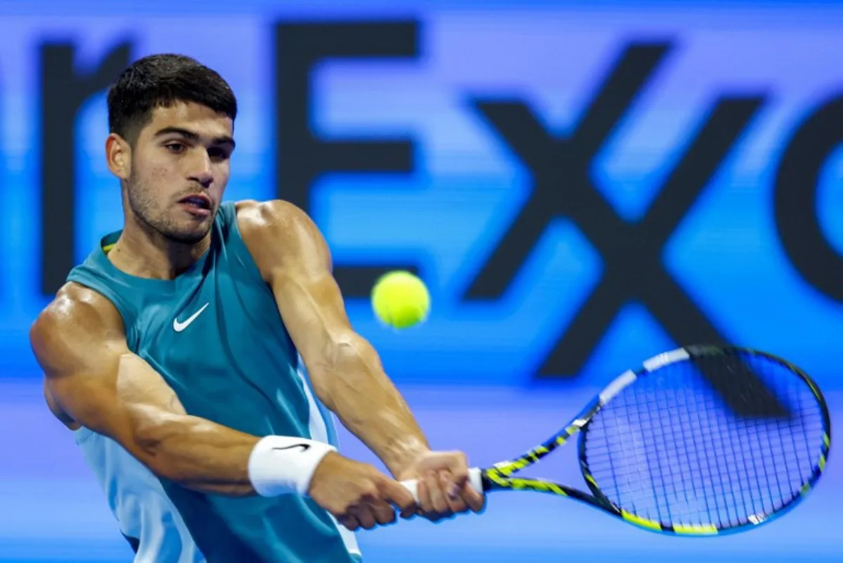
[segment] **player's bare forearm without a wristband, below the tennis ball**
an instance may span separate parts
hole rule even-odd
[[[319,398],[400,479],[430,450],[410,407],[368,341],[355,335],[332,357],[334,361],[315,378]]]

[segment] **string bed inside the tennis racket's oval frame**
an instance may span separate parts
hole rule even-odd
[[[801,493],[824,432],[813,393],[764,357],[711,361],[706,369],[731,373],[739,372],[728,362],[749,363],[792,416],[735,416],[698,366],[668,364],[624,389],[588,427],[586,464],[609,501],[665,525],[728,528]]]

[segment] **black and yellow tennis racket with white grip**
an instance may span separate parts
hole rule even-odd
[[[588,492],[516,473],[579,435]],[[620,375],[518,458],[470,469],[475,490],[567,496],[663,534],[725,534],[796,506],[825,468],[823,394],[792,363],[736,346],[686,346]],[[416,481],[403,481],[416,496]]]

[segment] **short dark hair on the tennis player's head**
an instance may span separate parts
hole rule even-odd
[[[108,93],[108,125],[112,133],[134,143],[156,108],[178,102],[204,105],[232,120],[237,98],[216,71],[184,55],[146,56],[132,63]]]

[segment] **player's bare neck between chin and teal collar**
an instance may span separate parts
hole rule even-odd
[[[172,280],[196,263],[211,246],[211,233],[197,243],[176,243],[138,217],[126,217],[109,260],[130,276]]]

